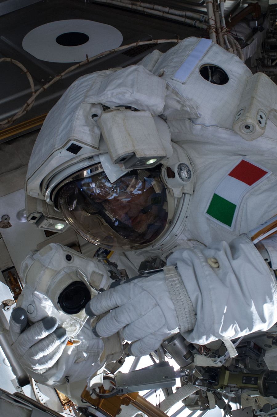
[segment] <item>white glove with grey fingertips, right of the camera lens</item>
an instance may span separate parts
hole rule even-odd
[[[123,337],[134,342],[129,348],[133,356],[149,354],[180,329],[164,272],[126,281],[102,292],[86,305],[90,316],[111,309],[114,310],[96,324],[93,332],[108,337],[123,329]]]

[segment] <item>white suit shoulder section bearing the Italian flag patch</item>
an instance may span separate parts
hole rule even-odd
[[[227,129],[179,123],[178,144],[196,170],[184,229],[188,238],[229,242],[277,214],[277,140],[247,142]]]

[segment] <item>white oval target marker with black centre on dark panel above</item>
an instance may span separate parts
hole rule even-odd
[[[46,23],[24,37],[25,51],[48,62],[81,62],[118,48],[123,36],[111,25],[92,20],[69,19]]]

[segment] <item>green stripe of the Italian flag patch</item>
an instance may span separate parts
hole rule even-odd
[[[236,207],[231,201],[214,194],[207,214],[231,227]]]

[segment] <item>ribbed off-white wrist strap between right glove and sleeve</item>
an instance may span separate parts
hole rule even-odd
[[[180,332],[188,332],[196,323],[195,311],[186,287],[175,266],[164,266],[164,275],[171,300],[176,309]]]

